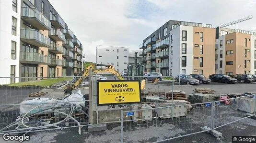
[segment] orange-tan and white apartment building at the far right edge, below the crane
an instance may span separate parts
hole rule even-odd
[[[216,28],[215,72],[256,74],[256,33]]]

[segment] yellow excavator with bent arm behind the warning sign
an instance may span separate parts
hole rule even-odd
[[[105,69],[94,69],[95,66],[101,66],[101,67],[106,67],[106,68],[105,68]],[[142,65],[142,66],[143,66],[143,65]],[[131,66],[131,67],[132,67],[132,66]],[[90,64],[90,65],[89,65],[85,70],[83,70],[77,77],[75,77],[72,82],[70,82],[70,83],[66,86],[64,92],[65,92],[65,93],[68,93],[68,94],[71,94],[72,90],[78,89],[78,88],[79,88],[79,85],[81,84],[81,82],[82,82],[86,77],[89,76],[89,70],[90,70],[90,69],[92,69],[92,73],[104,73],[104,72],[105,72],[105,73],[106,73],[106,72],[107,72],[107,73],[112,73],[112,74],[115,75],[119,80],[125,80],[125,79],[122,77],[122,75],[121,75],[119,72],[116,71],[116,69],[114,68],[113,65],[105,65],[105,64],[97,64],[97,65],[95,65],[95,64]],[[131,69],[131,68],[128,67],[128,71],[129,71],[129,69]],[[140,72],[140,73],[142,73],[142,76],[143,76],[143,67],[140,68],[140,69],[142,69],[142,72]],[[131,70],[130,70],[130,71],[131,71]],[[135,70],[135,71],[136,71],[136,70]],[[128,73],[130,73],[130,74],[132,75],[132,72],[128,72]],[[137,70],[137,73],[139,73],[138,70]],[[141,75],[135,74],[134,76],[141,76]],[[135,77],[135,78],[136,78],[136,77]],[[138,78],[136,78],[136,79],[138,79]],[[131,79],[129,79],[129,80],[131,80]],[[74,84],[72,84],[72,83],[74,83]],[[141,89],[142,91],[145,90],[145,85],[146,85],[145,80],[144,80],[144,79],[141,79],[141,81],[140,81],[140,89]]]

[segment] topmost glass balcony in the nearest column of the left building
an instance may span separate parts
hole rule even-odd
[[[31,7],[21,8],[21,18],[38,30],[50,30],[51,23],[45,15]]]

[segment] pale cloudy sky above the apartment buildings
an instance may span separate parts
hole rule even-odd
[[[227,28],[256,30],[256,0],[49,0],[83,45],[85,61],[96,46],[138,50],[168,20],[221,24],[253,15]],[[256,31],[255,31],[256,32]]]

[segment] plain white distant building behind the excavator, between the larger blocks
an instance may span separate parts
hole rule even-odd
[[[127,71],[128,48],[114,46],[97,46],[96,63],[113,65],[118,72]],[[97,68],[105,68],[97,66]]]

